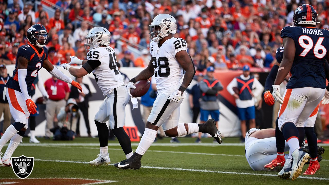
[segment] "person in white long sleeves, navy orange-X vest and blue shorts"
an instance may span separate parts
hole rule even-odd
[[[254,76],[250,76],[249,66],[245,65],[243,74],[234,78],[226,88],[235,98],[238,117],[241,121],[241,142],[244,142],[247,131],[246,120],[249,120],[249,129],[256,127],[254,96],[262,93],[264,87]]]

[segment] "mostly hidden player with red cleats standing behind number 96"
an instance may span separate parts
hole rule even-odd
[[[265,89],[266,90],[264,91],[264,100],[265,100],[266,104],[269,105],[269,106],[274,105],[274,97],[272,96],[272,94],[270,92],[273,89],[272,85],[273,85],[274,80],[276,78],[279,65],[282,61],[283,53],[284,53],[284,47],[283,46],[279,47],[276,51],[276,62],[275,62],[274,66],[272,67],[270,73],[268,74],[268,76],[266,78],[266,82],[265,82]],[[329,75],[328,75],[329,64],[325,63],[324,67],[325,67],[326,78],[329,80]],[[326,95],[323,98],[325,98],[325,97],[326,97]],[[322,101],[322,104],[324,104],[324,101]],[[280,113],[280,111],[279,111],[279,113]],[[307,119],[305,124],[303,126],[297,127],[298,133],[299,133],[299,136],[298,136],[299,146],[302,145],[302,143],[304,141],[304,138],[305,138],[305,134],[307,136],[309,136],[309,138],[310,137],[314,138],[314,136],[315,136],[314,123],[315,123],[317,114],[318,114],[318,106],[315,108],[313,113]],[[276,144],[276,146],[277,146],[277,157],[275,159],[273,159],[273,161],[271,161],[270,163],[268,163],[264,166],[265,168],[269,168],[269,169],[275,168],[276,166],[283,166],[285,164],[284,162],[286,161],[286,159],[284,158],[284,154],[283,154],[284,153],[285,139],[284,139],[284,136],[283,136],[282,132],[280,132],[280,130],[279,130],[278,119],[279,119],[279,117],[277,118],[277,120],[275,122],[276,123],[275,137],[276,137],[276,143],[277,143]],[[314,145],[314,143],[310,143],[309,145],[310,145],[309,146],[309,150],[310,150],[309,154],[310,154],[311,158],[316,159],[317,143],[316,143],[316,145]],[[318,160],[312,160],[312,162],[309,165],[308,169],[303,174],[310,174],[310,175],[315,174],[316,170],[320,167],[320,165],[318,164],[317,161]],[[288,176],[289,174],[290,174],[290,171],[279,173],[279,175],[281,177]]]

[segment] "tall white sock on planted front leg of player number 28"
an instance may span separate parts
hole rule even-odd
[[[136,153],[144,155],[146,150],[152,145],[157,136],[157,131],[149,128],[145,128],[144,134],[140,139],[139,145],[136,149]]]

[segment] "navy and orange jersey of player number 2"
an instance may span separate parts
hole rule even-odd
[[[21,92],[21,89],[18,84],[17,63],[18,57],[20,56],[29,60],[29,63],[27,65],[27,75],[25,78],[25,82],[27,85],[27,91],[29,95],[31,95],[31,85],[34,82],[35,78],[38,76],[38,71],[41,69],[43,61],[48,58],[48,49],[43,46],[41,53],[39,53],[35,46],[32,46],[30,44],[23,45],[18,48],[13,77],[8,80],[6,87],[19,92]]]

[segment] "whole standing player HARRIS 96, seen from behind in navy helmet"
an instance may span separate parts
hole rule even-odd
[[[284,54],[274,81],[273,96],[282,104],[278,128],[282,131],[292,156],[291,160],[287,159],[278,176],[283,177],[281,172],[291,173],[291,180],[299,176],[305,162],[310,158],[309,154],[299,148],[299,133],[296,127],[312,127],[305,125],[306,120],[319,106],[326,91],[324,63],[326,58],[329,59],[326,50],[329,47],[329,32],[315,27],[316,17],[315,9],[311,5],[303,4],[294,12],[294,26],[281,30]],[[283,99],[280,95],[280,84],[289,72],[291,79]],[[315,134],[306,134],[306,137],[311,147],[317,145]],[[316,161],[316,158],[311,158],[311,161]],[[319,165],[314,165],[314,168],[318,169]]]

